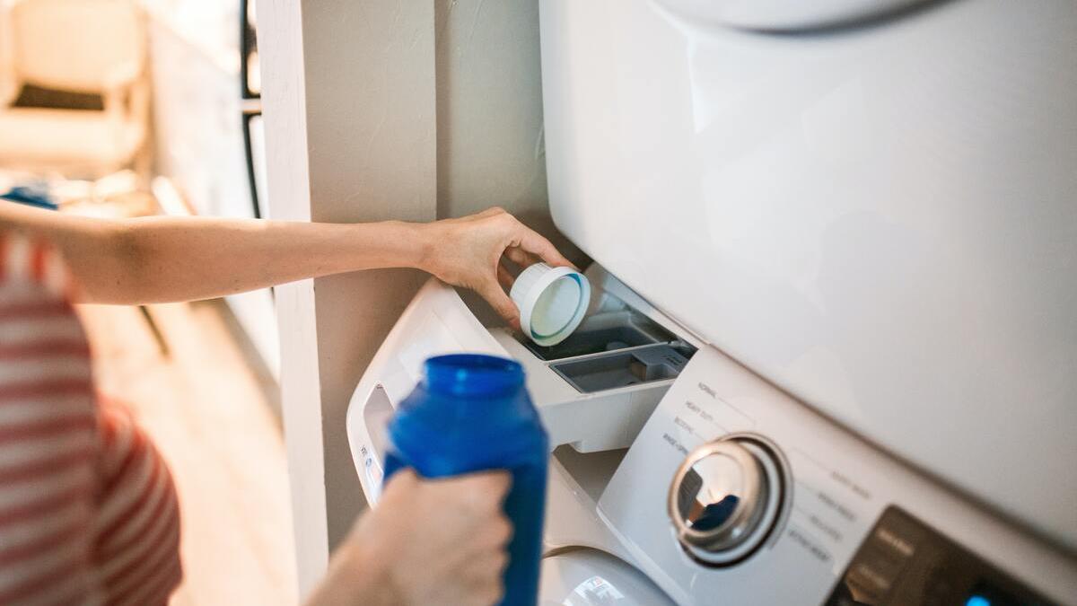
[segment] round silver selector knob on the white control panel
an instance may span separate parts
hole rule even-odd
[[[688,453],[670,486],[669,514],[689,554],[710,565],[732,564],[769,536],[783,492],[774,451],[732,437]]]

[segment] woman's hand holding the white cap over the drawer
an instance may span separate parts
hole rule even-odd
[[[503,288],[513,275],[503,259],[526,267],[538,261],[573,266],[553,244],[501,208],[424,225],[425,253],[421,268],[453,286],[482,295],[514,328],[520,312]]]

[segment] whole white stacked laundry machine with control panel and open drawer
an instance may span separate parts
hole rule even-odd
[[[1077,3],[540,0],[588,319],[436,281],[355,390],[520,360],[546,604],[1077,604]]]

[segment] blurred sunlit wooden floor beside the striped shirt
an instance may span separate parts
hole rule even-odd
[[[295,603],[276,386],[221,302],[86,305],[99,387],[128,402],[168,459],[183,521],[172,606]],[[162,350],[162,344],[167,353]]]

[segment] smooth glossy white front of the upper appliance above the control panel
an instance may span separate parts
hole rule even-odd
[[[558,226],[704,341],[1077,550],[1077,3],[784,35],[670,4],[693,3],[542,0]]]

